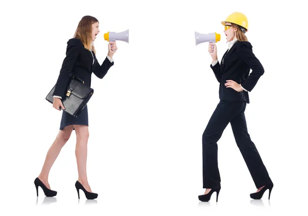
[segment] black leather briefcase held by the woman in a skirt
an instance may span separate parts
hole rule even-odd
[[[54,85],[55,87],[55,85]],[[53,92],[54,87],[51,89],[49,94],[46,96],[46,100],[53,103]],[[66,95],[62,96],[62,103],[65,107],[64,112],[77,117],[80,112],[87,105],[88,101],[93,95],[94,90],[84,84],[84,81],[78,77],[72,77],[68,84]]]

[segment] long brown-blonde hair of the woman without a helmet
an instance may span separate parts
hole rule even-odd
[[[96,54],[94,45],[92,44],[92,24],[98,23],[99,20],[93,16],[84,16],[79,21],[74,38],[79,38],[83,43],[85,49]]]

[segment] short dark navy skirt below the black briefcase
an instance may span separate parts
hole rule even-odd
[[[64,127],[68,125],[79,124],[79,125],[87,125],[89,126],[88,121],[88,106],[86,105],[84,109],[81,111],[79,116],[73,117],[72,115],[62,111],[62,119],[60,123],[60,129],[64,129]]]

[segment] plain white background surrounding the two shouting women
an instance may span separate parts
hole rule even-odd
[[[308,192],[302,3],[2,1],[0,214],[301,215]],[[222,35],[221,60],[227,44],[220,21],[235,11],[247,16],[246,35],[265,69],[245,114],[275,185],[271,202],[268,192],[261,201],[251,200],[256,188],[228,125],[218,142],[219,202],[214,194],[202,203],[202,133],[219,102],[219,83],[209,67],[208,43],[196,46],[195,31]],[[117,42],[108,74],[102,80],[92,76],[87,171],[99,197],[87,201],[81,193],[78,200],[73,132],[50,172],[57,196],[46,199],[40,188],[36,199],[33,181],[62,115],[45,97],[84,15],[100,21],[95,40],[100,63],[107,54],[104,33],[130,34],[129,44]]]

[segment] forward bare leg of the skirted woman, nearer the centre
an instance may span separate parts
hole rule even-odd
[[[92,192],[87,178],[87,153],[89,129],[86,125],[74,125],[76,132],[76,161],[78,167],[78,181],[88,192]]]

